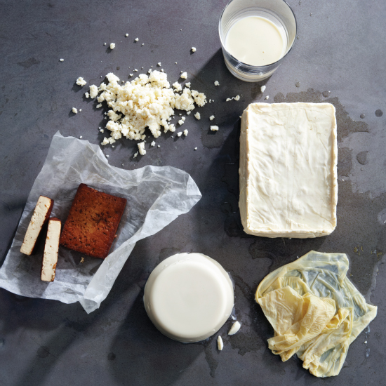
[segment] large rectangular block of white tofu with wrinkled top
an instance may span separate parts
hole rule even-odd
[[[320,237],[336,227],[337,141],[329,103],[252,103],[241,117],[244,231]]]

